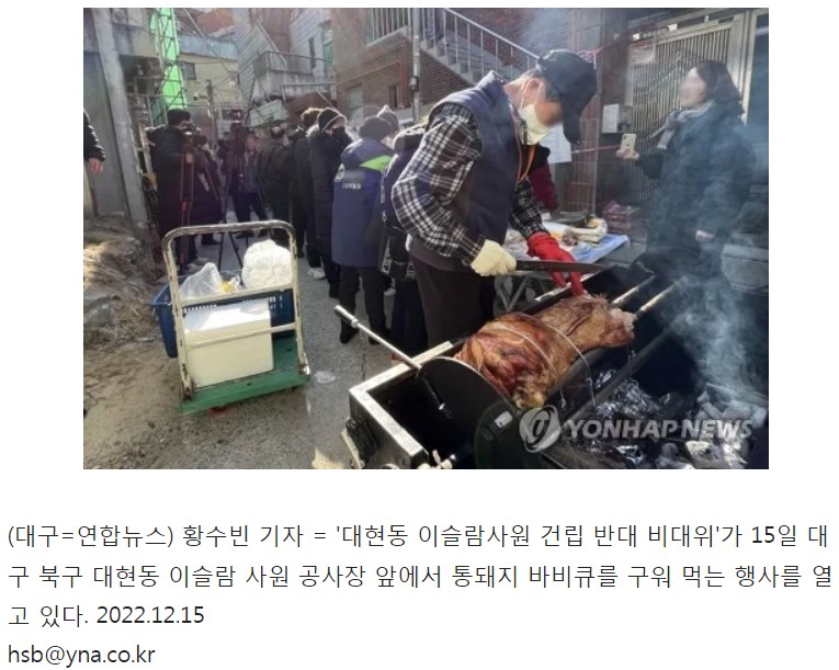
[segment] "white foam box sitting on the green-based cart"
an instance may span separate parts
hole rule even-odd
[[[186,313],[183,319],[186,356],[195,386],[222,384],[273,370],[271,333],[209,343],[270,327],[268,300],[220,305]]]

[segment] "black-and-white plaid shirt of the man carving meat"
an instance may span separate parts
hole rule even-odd
[[[458,104],[444,104],[392,192],[405,230],[431,251],[460,258],[464,264],[475,260],[485,238],[467,231],[452,202],[481,152],[480,130],[472,112]],[[525,239],[544,231],[530,179],[515,186],[510,225]]]

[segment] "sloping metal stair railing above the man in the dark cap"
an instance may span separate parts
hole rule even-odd
[[[429,50],[455,69],[480,77],[496,70],[513,79],[538,59],[533,52],[447,8],[420,11],[420,36]]]

